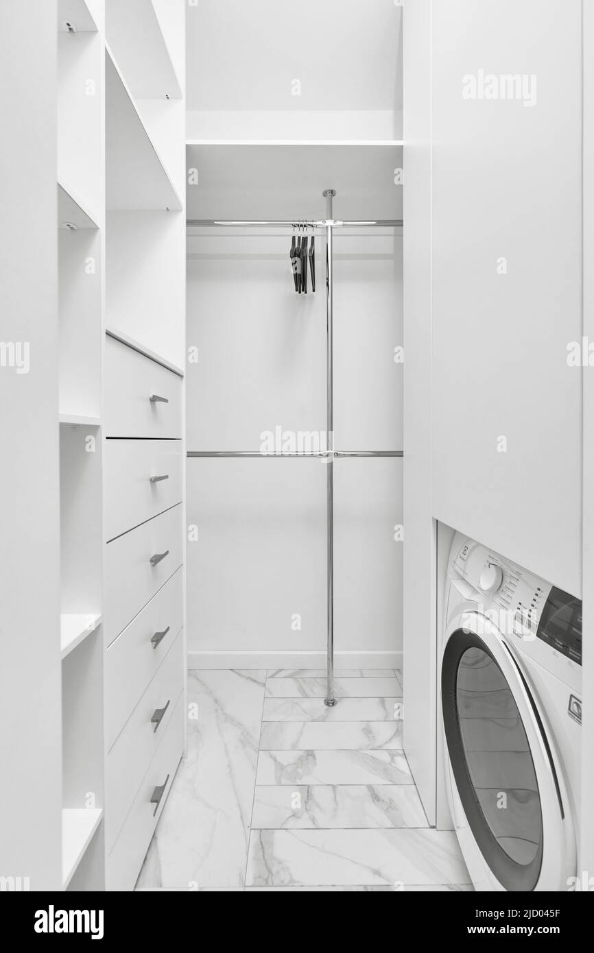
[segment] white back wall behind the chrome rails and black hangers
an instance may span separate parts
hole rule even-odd
[[[307,298],[294,291],[290,244],[286,232],[188,240],[187,343],[199,349],[187,371],[189,451],[258,451],[260,435],[277,426],[325,430],[324,240],[317,237],[317,292]],[[401,449],[400,248],[393,234],[336,238],[337,449]],[[335,463],[343,667],[400,661],[401,467],[389,458]],[[187,499],[187,522],[199,531],[187,547],[188,641],[197,663],[323,666],[325,464],[190,458]]]

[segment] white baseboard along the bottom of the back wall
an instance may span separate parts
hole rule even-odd
[[[188,649],[188,668],[321,668],[325,652],[209,651]],[[336,652],[335,672],[349,668],[402,668],[402,652]]]

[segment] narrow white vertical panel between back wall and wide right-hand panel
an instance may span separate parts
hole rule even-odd
[[[404,748],[435,822],[436,605],[431,513],[430,0],[404,16]]]

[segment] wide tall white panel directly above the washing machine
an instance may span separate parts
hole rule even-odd
[[[432,19],[433,516],[577,596],[580,16],[443,0]],[[481,70],[534,74],[535,105],[463,98]]]

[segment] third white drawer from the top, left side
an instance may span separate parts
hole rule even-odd
[[[113,642],[181,565],[181,517],[181,505],[174,506],[107,543],[103,613],[106,645]]]

